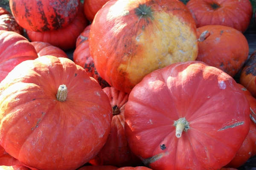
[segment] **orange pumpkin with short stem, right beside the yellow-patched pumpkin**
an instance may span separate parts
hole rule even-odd
[[[208,32],[208,33],[206,33]],[[210,66],[234,77],[249,55],[249,45],[244,35],[227,26],[202,26],[197,28],[198,57]]]

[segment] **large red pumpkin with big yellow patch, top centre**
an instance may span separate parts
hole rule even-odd
[[[99,75],[129,94],[151,71],[195,60],[195,28],[179,0],[111,0],[91,24],[90,54]]]

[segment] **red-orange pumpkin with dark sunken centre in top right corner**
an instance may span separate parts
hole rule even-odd
[[[197,27],[222,25],[243,33],[253,16],[249,0],[189,0],[186,6]]]

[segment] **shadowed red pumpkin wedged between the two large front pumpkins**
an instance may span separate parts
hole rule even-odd
[[[108,95],[113,110],[111,131],[102,150],[89,163],[115,167],[139,166],[142,161],[131,152],[124,129],[125,105],[129,95],[114,87],[106,87],[102,90]]]

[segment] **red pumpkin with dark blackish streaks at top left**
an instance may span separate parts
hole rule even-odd
[[[79,8],[79,0],[10,0],[17,23],[31,31],[52,31],[71,23]]]

